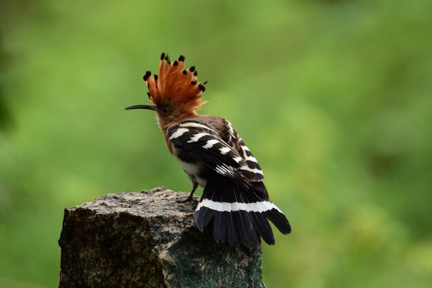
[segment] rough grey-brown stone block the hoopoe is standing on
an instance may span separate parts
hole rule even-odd
[[[175,202],[187,196],[161,187],[65,209],[59,287],[265,287],[261,245],[200,233],[196,202]]]

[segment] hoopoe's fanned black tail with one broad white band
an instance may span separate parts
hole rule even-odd
[[[202,232],[212,219],[215,240],[225,242],[228,239],[234,246],[258,244],[259,236],[267,244],[275,244],[268,220],[282,233],[291,232],[284,213],[268,200],[262,182],[254,183],[246,191],[216,173],[208,178],[194,215],[195,224]]]

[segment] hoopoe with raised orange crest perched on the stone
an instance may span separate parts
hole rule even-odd
[[[171,63],[162,53],[158,74],[147,71],[144,75],[154,105],[134,105],[126,110],[156,111],[168,150],[192,182],[190,195],[181,202],[192,201],[198,186],[204,189],[194,213],[199,231],[211,229],[213,219],[215,240],[228,239],[233,246],[258,244],[259,237],[275,244],[268,220],[282,233],[290,233],[284,213],[268,200],[257,159],[230,122],[197,114],[206,103],[201,99],[206,82],[197,81],[195,66],[184,69],[184,56]]]

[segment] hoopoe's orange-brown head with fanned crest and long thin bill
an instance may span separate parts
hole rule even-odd
[[[205,104],[201,97],[205,83],[197,81],[197,71],[192,66],[184,69],[184,56],[174,62],[162,53],[158,75],[150,71],[144,75],[148,87],[148,98],[153,105],[139,104],[126,107],[130,109],[148,109],[156,111],[159,126],[164,128],[179,119],[196,115],[197,109]]]

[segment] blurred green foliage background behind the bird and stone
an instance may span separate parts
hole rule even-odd
[[[0,287],[57,287],[63,209],[190,183],[148,111],[208,80],[293,225],[267,287],[430,287],[432,1],[1,1]],[[201,191],[199,192],[201,193]]]

